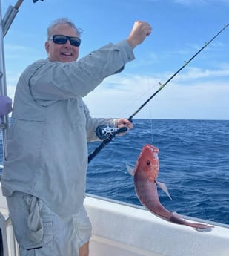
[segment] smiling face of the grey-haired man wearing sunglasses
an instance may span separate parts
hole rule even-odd
[[[76,31],[67,24],[59,24],[54,27],[53,35],[79,36]],[[64,45],[58,45],[55,44],[53,40],[49,40],[45,42],[45,49],[51,62],[73,62],[76,61],[79,56],[79,47],[70,45],[69,40],[67,40]]]

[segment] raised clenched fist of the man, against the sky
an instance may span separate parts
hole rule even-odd
[[[130,36],[127,38],[127,42],[132,48],[142,44],[146,36],[150,36],[152,27],[147,22],[136,21],[133,24],[133,28],[130,32]]]

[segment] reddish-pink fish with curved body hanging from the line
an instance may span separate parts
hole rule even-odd
[[[159,149],[153,145],[147,144],[142,148],[139,158],[136,162],[135,168],[131,169],[127,165],[127,170],[133,175],[136,194],[140,202],[149,211],[164,220],[171,223],[186,225],[193,227],[198,231],[209,231],[213,226],[208,226],[201,223],[190,223],[183,220],[176,212],[168,211],[159,201],[157,186],[162,188],[163,191],[170,197],[167,187],[164,183],[156,180],[159,174]],[[172,199],[170,197],[170,199]]]

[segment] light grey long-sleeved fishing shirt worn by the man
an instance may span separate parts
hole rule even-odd
[[[7,137],[2,192],[33,194],[58,214],[82,207],[87,142],[99,140],[96,127],[116,119],[95,119],[82,97],[105,77],[134,59],[126,41],[108,44],[77,62],[39,60],[21,74]]]

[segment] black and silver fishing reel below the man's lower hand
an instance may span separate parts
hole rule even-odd
[[[101,140],[106,140],[107,138],[113,138],[116,136],[116,134],[123,133],[127,131],[127,127],[123,126],[121,128],[115,128],[115,127],[110,127],[109,125],[99,125],[96,128],[96,135],[99,137]]]

